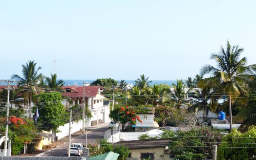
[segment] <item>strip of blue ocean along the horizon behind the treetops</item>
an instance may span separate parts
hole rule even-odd
[[[92,83],[94,80],[64,80],[65,82],[65,86],[66,85],[75,85],[77,84],[78,86],[82,86],[83,82],[86,83]],[[118,82],[120,82],[120,80],[117,80]],[[134,81],[135,80],[125,80],[126,83],[128,84],[133,84],[134,85]],[[151,86],[153,86],[153,84],[169,84],[171,85],[172,83],[176,83],[176,80],[152,80],[152,83],[150,83]]]

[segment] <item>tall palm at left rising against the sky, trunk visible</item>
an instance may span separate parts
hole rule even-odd
[[[26,65],[22,65],[22,75],[18,74],[12,75],[12,79],[20,81],[20,88],[25,89],[23,94],[28,98],[28,103],[31,106],[33,94],[37,94],[36,84],[40,82],[42,78],[42,73],[38,73],[41,67],[36,68],[36,63],[34,60],[29,60]],[[31,117],[31,108],[29,106],[29,117]]]

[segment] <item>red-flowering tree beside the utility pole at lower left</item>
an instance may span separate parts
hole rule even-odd
[[[12,154],[16,155],[24,149],[24,144],[35,146],[41,137],[36,133],[32,120],[11,116],[9,118],[8,138],[12,142]],[[0,132],[5,131],[6,118],[0,118]]]

